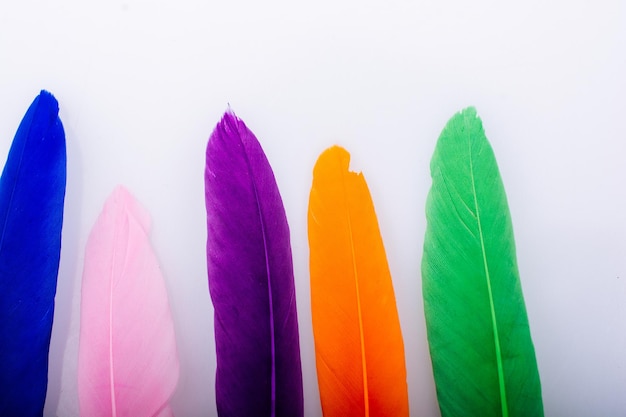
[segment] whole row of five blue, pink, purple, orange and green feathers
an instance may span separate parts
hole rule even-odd
[[[46,91],[34,100],[0,178],[2,416],[43,413],[66,181],[58,109]],[[323,152],[309,198],[322,411],[408,416],[385,249],[365,178],[349,171],[349,161],[340,147]],[[473,108],[442,131],[431,174],[422,285],[442,416],[542,416],[506,195]],[[289,227],[259,141],[231,112],[208,141],[205,198],[218,415],[302,417]],[[118,187],[89,235],[78,358],[82,416],[173,416],[179,362],[149,232],[149,214]]]

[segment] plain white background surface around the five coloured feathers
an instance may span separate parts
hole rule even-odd
[[[83,250],[118,183],[152,213],[181,373],[179,417],[215,415],[206,141],[228,103],[270,160],[291,227],[305,415],[311,171],[335,143],[379,216],[412,416],[437,416],[420,262],[429,160],[475,105],[498,159],[548,416],[626,415],[626,5],[620,1],[4,1],[0,159],[41,88],[68,183],[46,416],[77,415]]]

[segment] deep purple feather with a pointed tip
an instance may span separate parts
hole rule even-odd
[[[205,186],[218,414],[302,416],[285,209],[261,145],[230,112],[209,139]]]

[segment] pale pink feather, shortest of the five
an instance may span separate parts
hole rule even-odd
[[[179,363],[150,217],[117,187],[85,248],[78,351],[80,414],[172,416]]]

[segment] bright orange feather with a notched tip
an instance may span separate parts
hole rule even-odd
[[[409,415],[404,345],[374,205],[340,147],[309,198],[311,311],[324,416]]]

